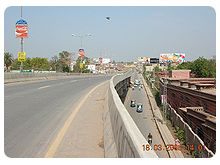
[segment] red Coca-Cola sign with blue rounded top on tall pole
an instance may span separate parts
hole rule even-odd
[[[20,19],[15,24],[15,35],[16,38],[27,38],[28,37],[28,24],[25,20]]]

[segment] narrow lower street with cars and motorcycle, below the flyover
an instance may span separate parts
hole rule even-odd
[[[135,79],[138,79],[141,81],[137,72],[134,72],[131,77],[132,81],[134,81]],[[136,103],[143,104],[143,112],[142,113],[136,112],[137,106],[130,107],[131,100],[136,100]],[[125,105],[126,109],[128,110],[129,114],[131,115],[131,117],[133,118],[134,122],[136,123],[137,127],[139,128],[139,130],[141,131],[143,136],[146,138],[146,140],[147,140],[148,134],[149,133],[152,134],[152,136],[153,136],[152,149],[156,152],[158,157],[169,158],[169,155],[164,148],[165,145],[163,143],[163,140],[157,130],[157,127],[156,127],[156,124],[155,124],[155,121],[153,118],[153,114],[151,111],[151,107],[149,104],[149,100],[147,98],[147,95],[146,95],[144,88],[142,88],[141,90],[139,90],[138,87],[135,87],[134,90],[129,88],[127,98],[125,100],[124,105]],[[143,145],[145,145],[145,144],[143,144]],[[155,145],[155,149],[154,149],[154,145]],[[159,151],[156,148],[157,146],[159,146],[159,147],[162,146],[163,149]],[[145,151],[145,152],[147,152],[147,151]]]

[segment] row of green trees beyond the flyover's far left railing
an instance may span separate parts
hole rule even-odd
[[[33,71],[56,71],[56,72],[76,72],[76,73],[88,73],[90,72],[86,68],[86,64],[89,63],[88,58],[85,57],[84,63],[78,58],[76,64],[73,67],[73,71],[70,71],[71,53],[62,51],[58,55],[53,56],[50,60],[48,58],[26,58],[23,62],[23,70]],[[4,53],[4,66],[5,72],[11,70],[20,70],[21,62],[9,52]]]

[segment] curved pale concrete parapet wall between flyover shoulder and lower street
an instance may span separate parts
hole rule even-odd
[[[127,84],[126,79],[129,75],[120,77],[114,76],[110,80],[108,90],[108,110],[118,157],[157,158],[158,156],[153,150],[143,151],[143,145],[148,144],[148,142],[134,123],[115,90],[115,86],[119,82],[125,81],[125,84]]]

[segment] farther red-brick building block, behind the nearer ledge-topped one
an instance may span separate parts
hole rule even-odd
[[[167,102],[178,111],[184,107],[203,107],[204,111],[216,115],[215,81],[211,78],[174,79],[167,78]],[[163,80],[160,79],[160,94],[163,95]]]

